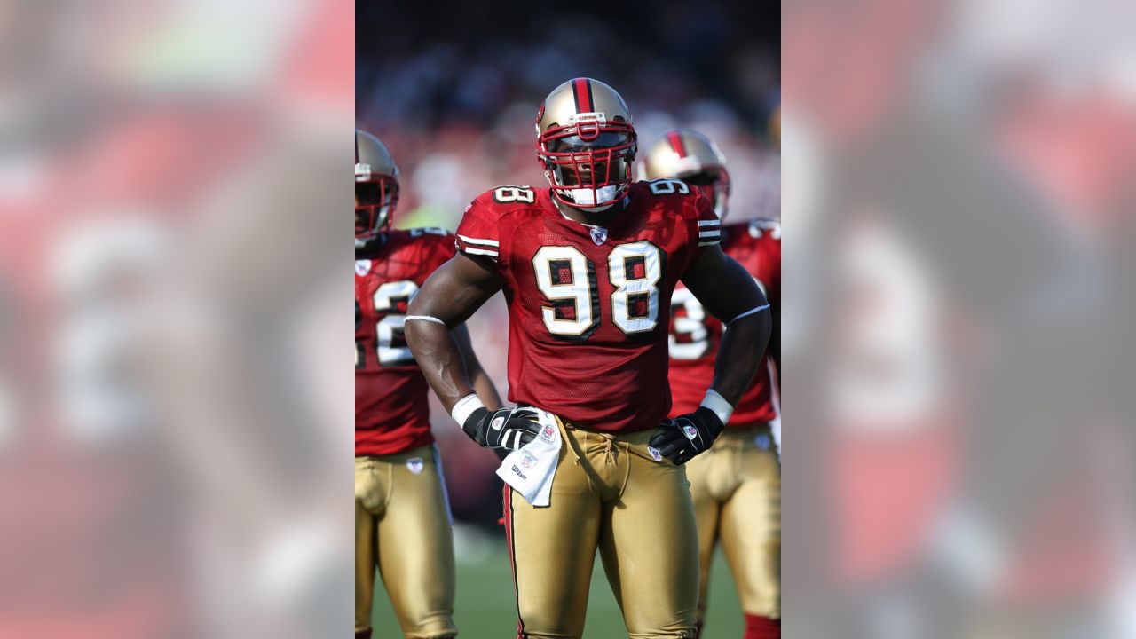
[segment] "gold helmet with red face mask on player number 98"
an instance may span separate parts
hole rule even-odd
[[[536,114],[536,157],[561,202],[601,210],[632,183],[636,138],[627,103],[588,77],[557,86]]]

